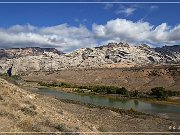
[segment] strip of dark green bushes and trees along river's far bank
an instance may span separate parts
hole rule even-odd
[[[39,82],[40,86],[46,87],[62,87],[62,88],[74,88],[77,93],[96,93],[100,95],[119,95],[122,97],[130,98],[144,98],[144,99],[157,99],[157,100],[167,100],[168,97],[180,97],[179,91],[166,90],[163,87],[154,87],[150,92],[139,92],[129,91],[125,87],[116,87],[116,86],[106,86],[106,85],[88,85],[81,86],[69,83],[44,83]]]

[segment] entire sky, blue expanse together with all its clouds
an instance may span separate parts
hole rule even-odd
[[[180,3],[0,3],[0,48],[180,44],[178,13]]]

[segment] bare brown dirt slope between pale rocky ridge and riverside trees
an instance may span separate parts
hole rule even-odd
[[[138,91],[149,91],[153,87],[163,86],[168,90],[180,91],[180,67],[178,66],[36,72],[23,78],[79,85],[113,85]]]

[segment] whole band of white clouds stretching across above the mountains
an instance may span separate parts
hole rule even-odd
[[[106,24],[93,24],[92,30],[85,26],[60,24],[36,27],[30,24],[0,28],[0,48],[55,47],[70,52],[107,42],[149,43],[154,46],[180,43],[180,25],[167,23],[154,26],[149,22],[133,22],[126,19],[109,20]]]

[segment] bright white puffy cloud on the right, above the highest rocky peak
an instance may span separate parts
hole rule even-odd
[[[93,24],[96,39],[152,44],[175,43],[180,41],[180,25],[170,27],[166,23],[158,26],[148,22],[132,22],[126,19],[108,21],[105,25]]]

